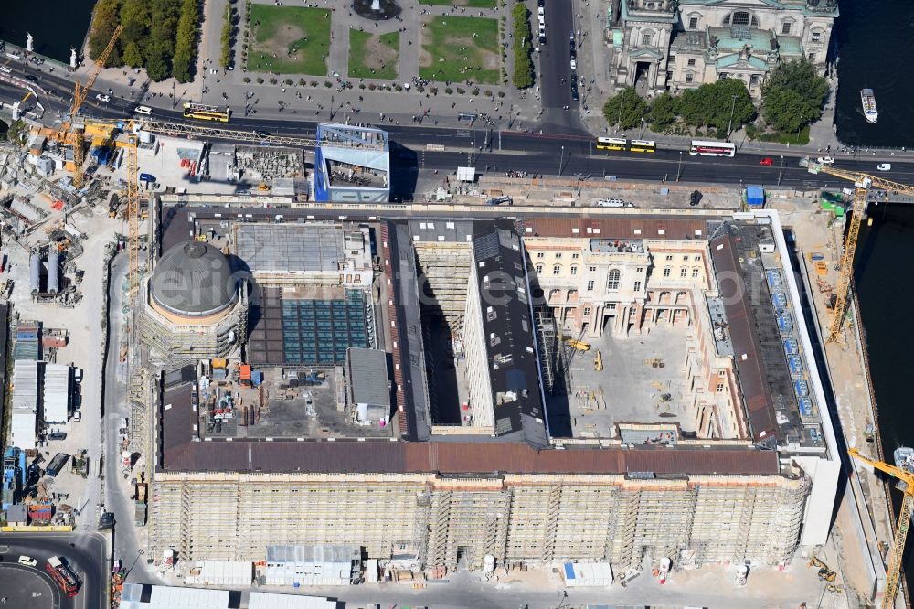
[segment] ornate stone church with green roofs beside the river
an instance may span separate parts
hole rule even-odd
[[[682,91],[722,78],[753,97],[781,61],[824,72],[836,0],[621,0],[606,40],[617,87]]]

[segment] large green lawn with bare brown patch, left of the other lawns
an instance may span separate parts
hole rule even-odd
[[[248,70],[326,76],[330,11],[325,8],[251,5],[254,43]]]

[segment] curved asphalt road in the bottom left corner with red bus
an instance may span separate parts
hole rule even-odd
[[[0,590],[14,590],[17,585],[21,585],[24,574],[10,563],[16,563],[19,556],[26,555],[37,559],[38,563],[35,568],[23,567],[22,569],[31,569],[33,576],[40,578],[40,581],[48,582],[52,590],[56,593],[52,603],[42,600],[44,597],[31,598],[32,604],[14,605],[19,607],[35,607],[38,609],[96,609],[103,607],[105,604],[104,591],[106,589],[105,578],[108,574],[105,565],[108,564],[105,541],[101,535],[86,533],[71,534],[22,534],[22,533],[5,533],[0,536],[0,554],[3,555],[4,568],[0,569]],[[80,576],[82,587],[80,592],[68,599],[60,593],[56,583],[45,573],[45,564],[50,556],[63,556],[73,567],[74,571]],[[15,565],[18,567],[18,565]],[[15,582],[15,583],[14,583]],[[29,587],[41,590],[43,585],[38,581],[29,582]],[[11,599],[12,600],[12,599]]]

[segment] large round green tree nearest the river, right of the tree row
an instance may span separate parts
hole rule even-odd
[[[794,60],[771,70],[761,90],[762,116],[778,131],[795,132],[822,116],[828,80],[809,61]]]

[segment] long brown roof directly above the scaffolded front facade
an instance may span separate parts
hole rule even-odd
[[[189,386],[186,386],[189,387]],[[778,454],[751,448],[537,449],[523,442],[192,440],[186,404],[163,412],[160,470],[486,474],[777,475]],[[166,402],[168,403],[168,402]]]

